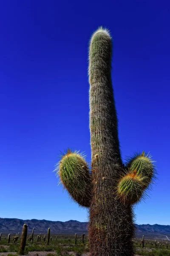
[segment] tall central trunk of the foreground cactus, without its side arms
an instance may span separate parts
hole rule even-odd
[[[114,196],[123,173],[111,84],[111,38],[96,32],[89,52],[92,197],[88,226],[91,256],[132,256],[131,206]]]

